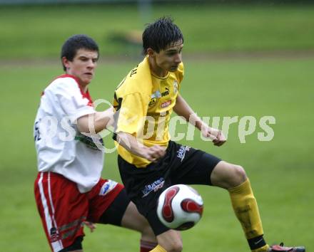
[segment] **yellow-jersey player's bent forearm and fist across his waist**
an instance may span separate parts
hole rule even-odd
[[[155,162],[157,159],[163,157],[166,154],[166,148],[160,145],[153,145],[152,147],[146,147],[142,143],[136,140],[136,137],[126,132],[118,132],[116,135],[116,141],[124,149],[128,150],[138,157],[143,157],[151,162]]]

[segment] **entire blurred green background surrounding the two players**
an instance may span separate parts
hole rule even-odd
[[[41,91],[62,73],[62,43],[74,33],[95,38],[101,58],[91,95],[112,100],[116,85],[141,61],[144,24],[159,16],[172,16],[185,36],[181,93],[198,115],[276,120],[270,142],[258,140],[263,130],[257,127],[241,144],[234,124],[223,147],[203,142],[198,132],[181,143],[245,167],[269,243],[314,250],[314,6],[197,2],[153,4],[146,11],[137,4],[0,6],[0,251],[49,251],[33,195],[32,127]],[[105,140],[113,146],[111,137]],[[116,152],[106,154],[103,177],[120,181]],[[248,251],[226,191],[196,189],[205,212],[182,233],[184,251]],[[133,231],[98,225],[94,233],[86,230],[83,247],[138,251],[138,240]]]

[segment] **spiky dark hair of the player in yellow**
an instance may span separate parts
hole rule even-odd
[[[148,23],[143,31],[142,39],[144,55],[146,55],[148,48],[159,53],[176,41],[181,40],[183,43],[180,28],[169,17],[162,17],[154,23]]]

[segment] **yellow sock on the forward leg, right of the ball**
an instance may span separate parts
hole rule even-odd
[[[263,235],[262,222],[258,212],[258,204],[253,195],[248,179],[238,187],[228,189],[233,210],[240,221],[247,239]]]

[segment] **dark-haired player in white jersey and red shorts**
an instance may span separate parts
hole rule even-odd
[[[93,230],[93,223],[139,231],[141,252],[150,251],[156,246],[153,231],[123,185],[101,178],[103,152],[95,135],[85,134],[101,132],[113,116],[112,109],[96,112],[88,93],[98,53],[92,38],[71,36],[61,50],[65,74],[41,96],[34,125],[36,204],[51,251],[83,251],[83,224]]]

